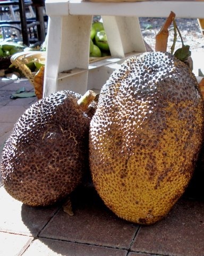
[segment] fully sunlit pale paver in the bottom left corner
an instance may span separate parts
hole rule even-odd
[[[29,246],[32,237],[0,232],[0,255],[21,255]]]

